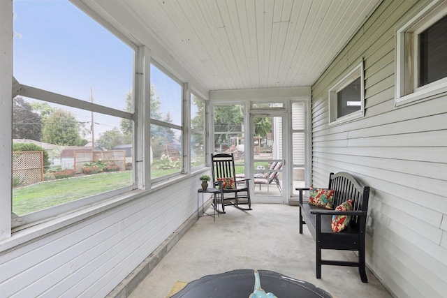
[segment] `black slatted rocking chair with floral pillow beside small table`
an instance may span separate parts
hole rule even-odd
[[[243,179],[243,184],[236,183],[235,158],[233,154],[211,154],[212,183],[223,187],[223,195],[216,198],[215,202],[221,202],[222,213],[225,206],[231,205],[243,210],[251,210],[249,180]],[[220,194],[215,194],[220,197]],[[240,205],[248,204],[248,208]],[[216,206],[217,207],[217,206]]]

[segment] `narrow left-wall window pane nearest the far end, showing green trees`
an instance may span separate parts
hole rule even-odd
[[[205,100],[191,93],[191,167],[205,165]]]

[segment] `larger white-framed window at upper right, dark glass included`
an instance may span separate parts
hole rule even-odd
[[[434,0],[397,30],[396,105],[447,92],[446,13]]]

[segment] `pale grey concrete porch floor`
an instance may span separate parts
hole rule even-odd
[[[357,267],[327,265],[317,280],[315,244],[307,228],[304,234],[298,232],[298,207],[253,204],[252,208],[226,207],[226,214],[215,222],[210,216],[201,217],[129,297],[166,298],[177,281],[234,269],[276,271],[313,283],[332,297],[392,297],[368,269],[368,283],[360,281]],[[323,258],[327,253],[323,251]],[[353,252],[330,253],[342,260],[356,258]]]

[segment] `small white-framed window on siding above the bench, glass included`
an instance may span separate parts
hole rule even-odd
[[[330,125],[363,117],[365,89],[363,61],[329,90]]]

